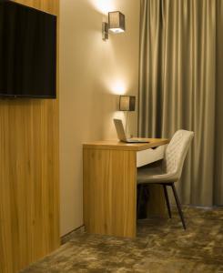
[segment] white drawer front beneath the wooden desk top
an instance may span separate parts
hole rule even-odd
[[[162,145],[156,148],[150,148],[144,151],[137,152],[137,167],[145,166],[149,163],[161,160],[164,157],[164,152],[167,145]]]

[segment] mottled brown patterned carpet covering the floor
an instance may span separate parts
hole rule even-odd
[[[81,234],[23,273],[223,272],[223,208],[185,207],[172,219],[139,220],[137,238]]]

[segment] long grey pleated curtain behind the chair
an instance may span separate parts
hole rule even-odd
[[[184,204],[223,205],[223,1],[141,0],[139,136],[195,132]]]

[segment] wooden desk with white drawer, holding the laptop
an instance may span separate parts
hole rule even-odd
[[[86,232],[136,237],[137,167],[163,158],[167,139],[126,144],[84,144],[84,223]]]

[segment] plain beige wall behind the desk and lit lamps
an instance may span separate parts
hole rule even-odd
[[[101,38],[107,11],[126,15],[127,32]],[[117,95],[137,96],[139,0],[62,0],[60,24],[61,235],[83,224],[82,143],[117,138]],[[104,15],[103,15],[104,14]],[[137,114],[131,114],[131,132]]]

